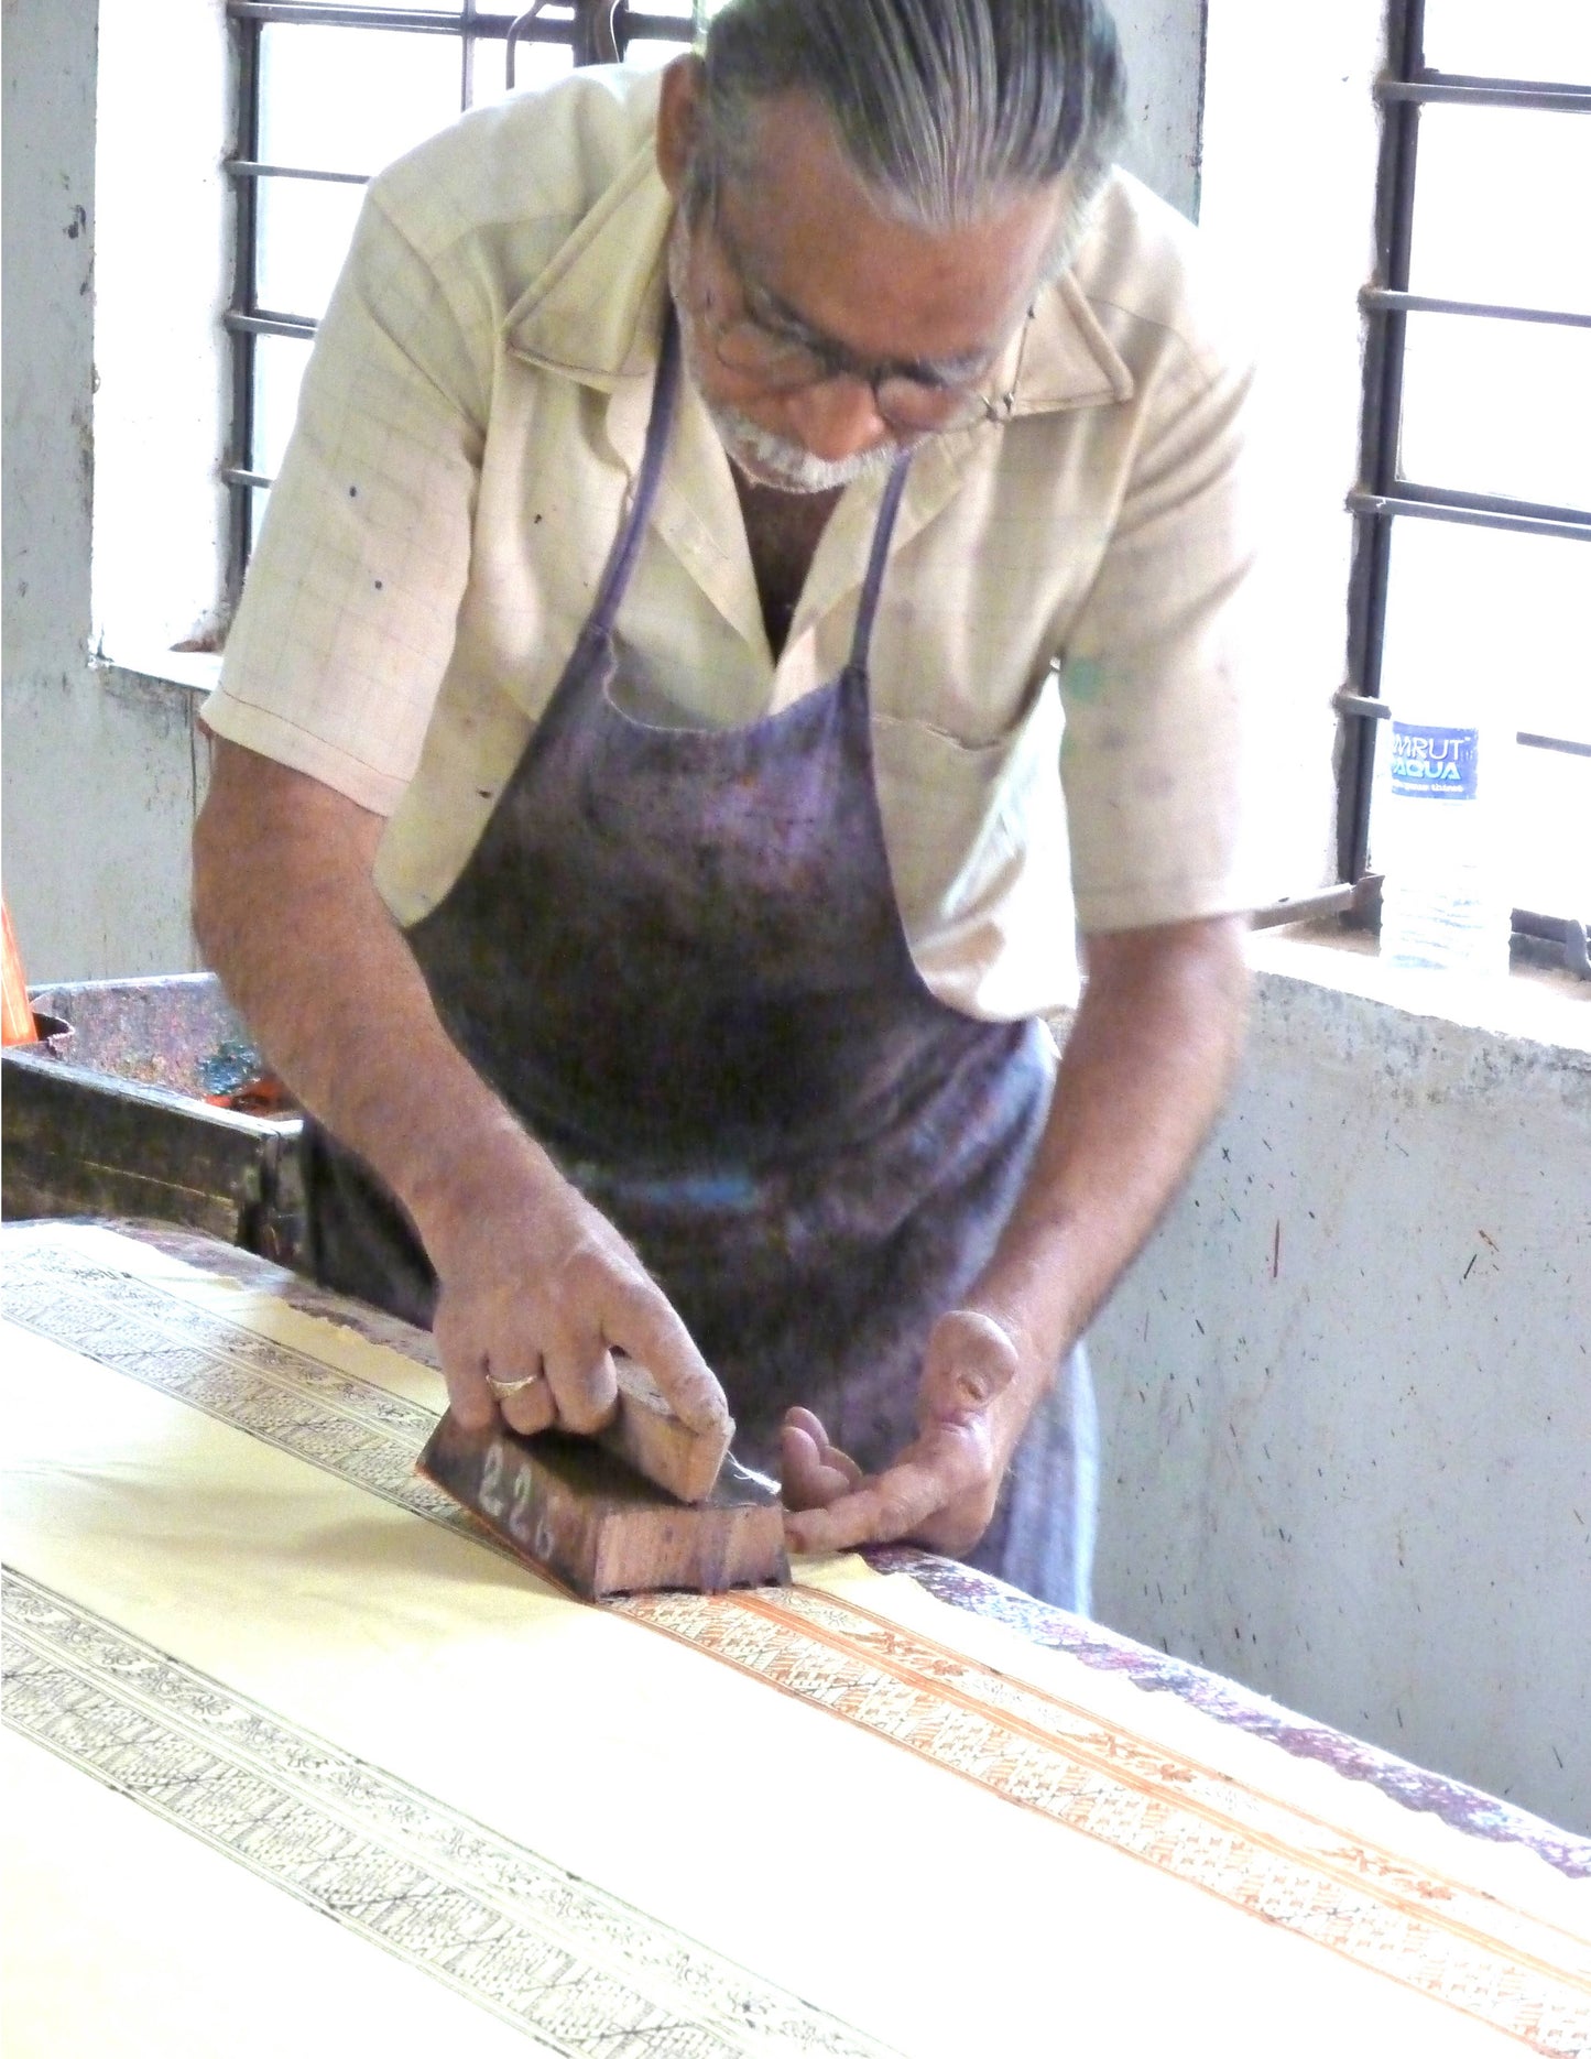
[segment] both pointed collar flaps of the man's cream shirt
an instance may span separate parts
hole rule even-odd
[[[671,220],[673,200],[648,140],[508,311],[508,350],[603,393],[650,381]],[[998,381],[1013,393],[1013,416],[1132,397],[1132,373],[1070,274],[1039,292]]]

